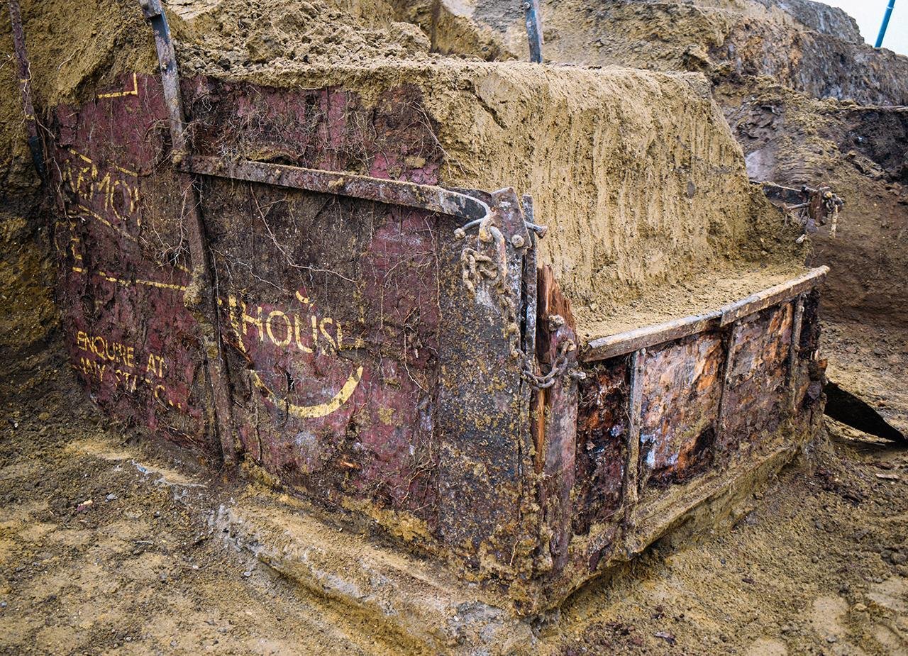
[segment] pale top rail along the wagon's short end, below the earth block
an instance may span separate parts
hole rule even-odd
[[[802,276],[787,280],[780,285],[764,289],[745,299],[729,303],[723,308],[704,314],[676,318],[665,323],[634,328],[626,332],[608,335],[589,341],[580,359],[584,362],[605,360],[609,357],[622,356],[639,348],[649,348],[657,344],[685,338],[688,335],[721,328],[733,321],[794,299],[802,292],[819,285],[829,271],[829,267],[811,269]]]

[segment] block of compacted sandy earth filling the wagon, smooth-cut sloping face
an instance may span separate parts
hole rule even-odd
[[[289,88],[341,85],[366,104],[398,85],[418,87],[445,153],[441,181],[531,194],[551,229],[540,258],[578,304],[611,311],[648,286],[745,258],[803,261],[794,228],[785,233],[747,181],[697,74],[447,58],[202,70]]]

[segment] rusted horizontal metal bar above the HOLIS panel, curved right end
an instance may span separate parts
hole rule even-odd
[[[211,175],[231,180],[245,180],[273,184],[319,193],[376,201],[389,205],[403,205],[449,214],[465,220],[482,220],[489,216],[489,205],[477,198],[458,191],[450,191],[429,184],[385,180],[343,171],[322,171],[300,166],[232,161],[220,157],[192,155],[182,164],[184,171]]]

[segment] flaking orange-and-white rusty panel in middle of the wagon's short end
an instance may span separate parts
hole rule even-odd
[[[683,482],[712,462],[725,361],[721,333],[647,351],[640,417],[641,486]]]

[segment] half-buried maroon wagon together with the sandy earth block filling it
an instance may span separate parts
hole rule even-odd
[[[212,460],[239,456],[518,614],[541,612],[814,434],[822,275],[629,350],[578,335],[572,302],[621,316],[623,299],[685,267],[734,267],[755,225],[779,221],[715,106],[686,76],[390,71],[350,67],[330,85],[320,70],[305,84],[283,72],[280,86],[186,78],[182,172],[157,78],[127,74],[58,107],[67,347],[112,415]],[[633,122],[628,94],[665,102]],[[563,130],[540,128],[556,115]],[[242,162],[262,175],[242,180]],[[281,166],[467,187],[490,222],[460,237],[464,218],[351,198],[349,181],[293,188]],[[187,254],[195,194],[213,289]],[[531,207],[543,239],[525,224]],[[801,273],[789,256],[774,270]],[[760,280],[742,279],[737,298]],[[200,322],[216,348],[202,347]],[[212,394],[214,361],[228,403]],[[539,390],[528,361],[568,368]]]

